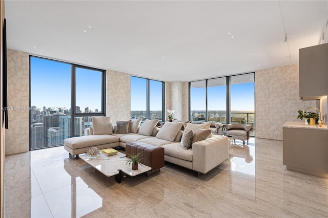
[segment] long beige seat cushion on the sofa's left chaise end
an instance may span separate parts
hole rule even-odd
[[[114,142],[119,142],[119,138],[112,135],[79,136],[64,140],[64,144],[72,149],[91,147]]]

